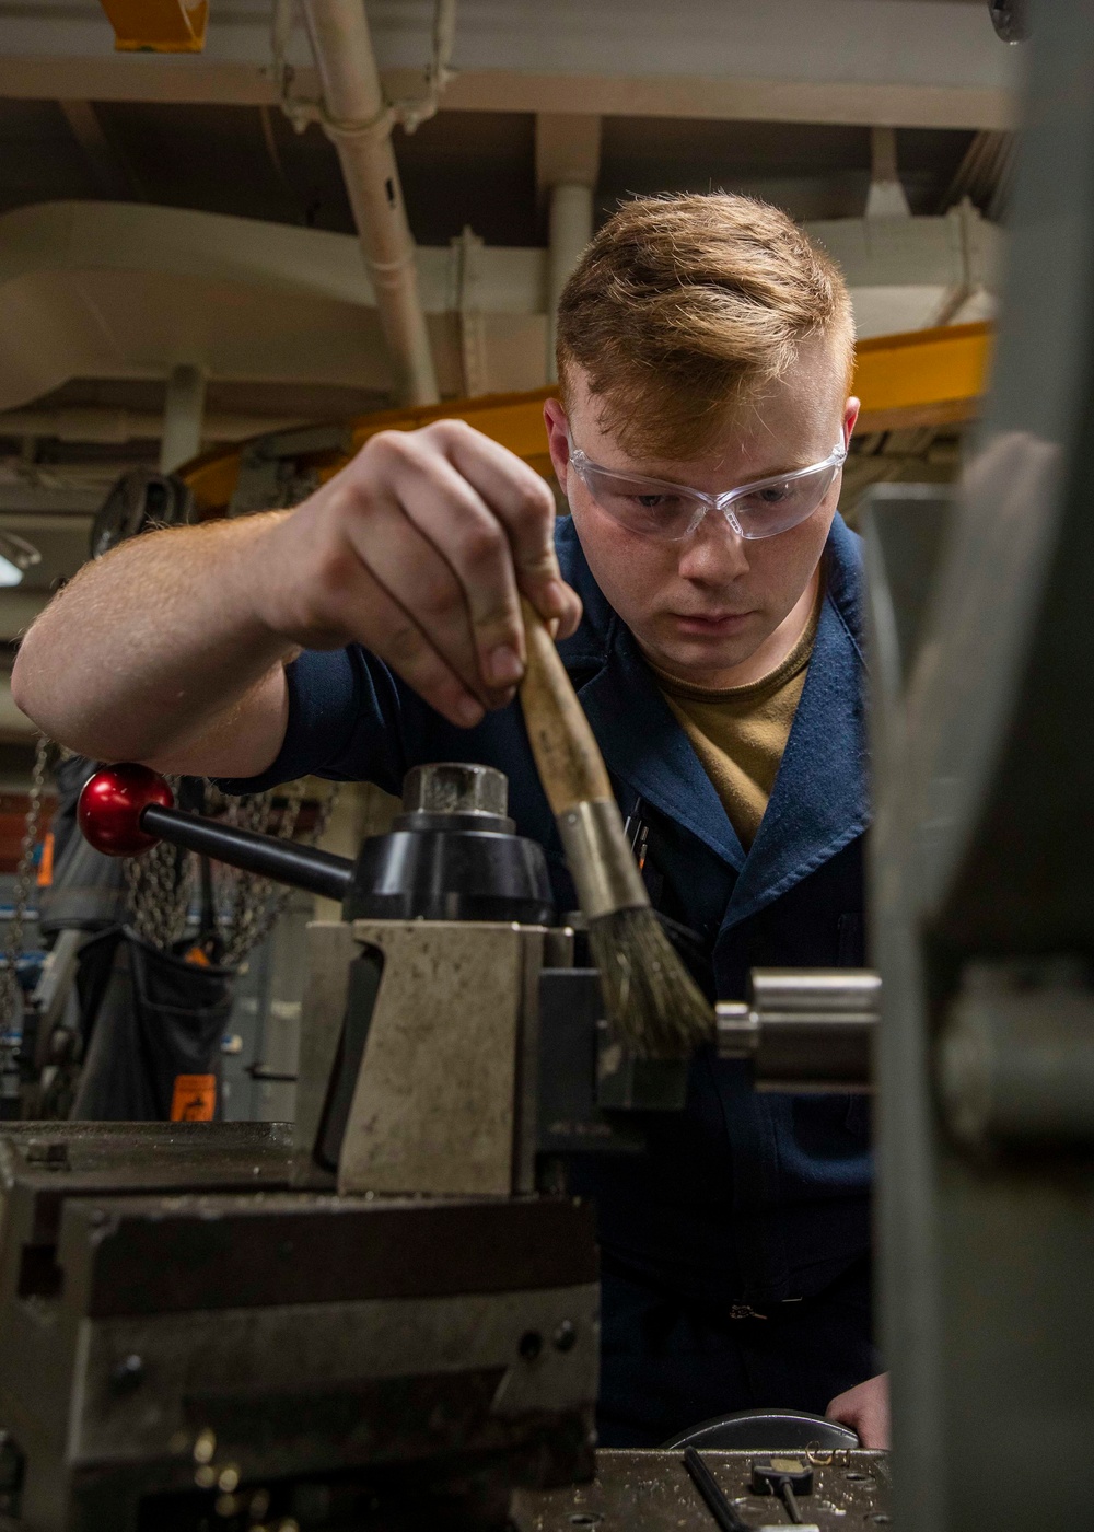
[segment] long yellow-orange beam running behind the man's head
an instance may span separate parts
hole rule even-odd
[[[860,430],[970,420],[984,394],[990,360],[990,325],[947,325],[863,340],[857,351],[853,383],[863,401]],[[349,423],[352,450],[357,452],[378,430],[417,430],[434,420],[466,420],[550,478],[542,409],[544,400],[555,394],[556,389],[542,388],[529,394],[487,394],[360,415]],[[345,461],[343,455],[328,453],[313,460],[313,467],[320,480],[326,480]],[[184,476],[199,512],[218,515],[227,507],[239,476],[239,447],[196,458]]]

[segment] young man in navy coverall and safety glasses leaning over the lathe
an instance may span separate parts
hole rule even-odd
[[[524,591],[558,622],[647,827],[651,898],[709,993],[739,997],[754,965],[858,965],[843,280],[763,204],[634,201],[582,257],[558,336],[545,420],[572,518],[556,527],[547,486],[466,426],[374,437],[293,512],[86,568],[28,634],[15,699],[81,754],[230,791],[317,772],[397,792],[417,761],[498,766],[565,908],[513,706]],[[757,1095],[703,1054],[686,1111],[651,1115],[648,1138],[640,1160],[573,1172],[601,1216],[602,1440],[766,1405],[829,1406],[883,1445],[861,1105]]]

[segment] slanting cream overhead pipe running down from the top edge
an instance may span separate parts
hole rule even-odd
[[[303,14],[323,84],[323,129],[342,161],[400,391],[409,404],[435,404],[437,369],[391,146],[395,118],[380,87],[363,0],[305,0]]]

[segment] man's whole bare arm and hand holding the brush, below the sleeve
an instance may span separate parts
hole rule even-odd
[[[470,726],[519,680],[519,594],[562,636],[581,619],[553,532],[547,484],[470,426],[380,432],[296,510],[86,564],[23,640],[12,694],[81,755],[253,777],[285,735],[294,647],[359,642]]]

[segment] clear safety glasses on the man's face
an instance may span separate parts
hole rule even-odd
[[[601,467],[575,447],[567,434],[570,466],[601,510],[628,532],[660,542],[679,542],[699,529],[708,510],[720,510],[739,538],[775,538],[807,521],[832,489],[847,457],[840,441],[823,463],[755,480],[708,495],[700,489]]]

